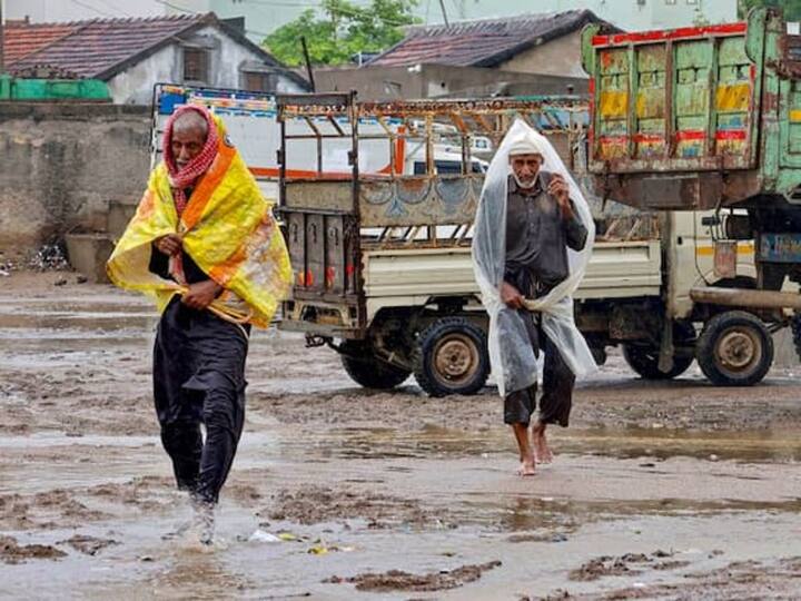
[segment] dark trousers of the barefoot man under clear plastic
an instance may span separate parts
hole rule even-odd
[[[538,421],[543,424],[558,424],[567,427],[573,407],[575,374],[562,358],[556,345],[543,332],[542,316],[525,309],[520,314],[526,324],[534,354],[540,356],[540,351],[545,353]],[[532,415],[536,411],[536,388],[537,386],[534,384],[504,397],[504,423],[525,424],[526,426],[531,423]]]

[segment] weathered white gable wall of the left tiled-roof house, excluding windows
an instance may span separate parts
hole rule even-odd
[[[209,81],[216,88],[240,88],[241,68],[246,61],[258,61],[259,56],[215,27],[199,30],[188,41],[202,42],[210,48]],[[109,90],[116,104],[149,105],[152,87],[158,82],[184,82],[184,51],[178,43],[164,48],[109,80]],[[295,81],[281,77],[279,92],[304,91]]]

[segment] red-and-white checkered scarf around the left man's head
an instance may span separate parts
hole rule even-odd
[[[175,157],[172,156],[172,129],[175,122],[181,115],[187,112],[197,112],[205,120],[208,128],[206,136],[206,144],[200,150],[200,154],[189,161],[182,169],[178,168]],[[165,126],[164,135],[164,158],[167,165],[167,171],[169,174],[170,187],[172,188],[172,198],[175,199],[176,210],[178,215],[184,213],[187,206],[187,197],[184,191],[195,185],[195,181],[209,170],[214,159],[217,157],[217,144],[219,142],[219,134],[217,132],[217,126],[211,118],[211,114],[206,107],[199,107],[195,105],[186,105],[176,110],[172,116],[167,120]]]

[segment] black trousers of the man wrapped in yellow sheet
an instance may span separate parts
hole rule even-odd
[[[248,334],[249,326],[191,309],[178,296],[156,334],[154,397],[161,443],[178,487],[211,503],[228,477],[245,423]]]

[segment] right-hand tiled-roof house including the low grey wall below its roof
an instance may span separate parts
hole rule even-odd
[[[617,31],[589,10],[414,26],[366,65],[319,69],[315,81],[373,100],[585,93],[581,31],[594,22]]]

